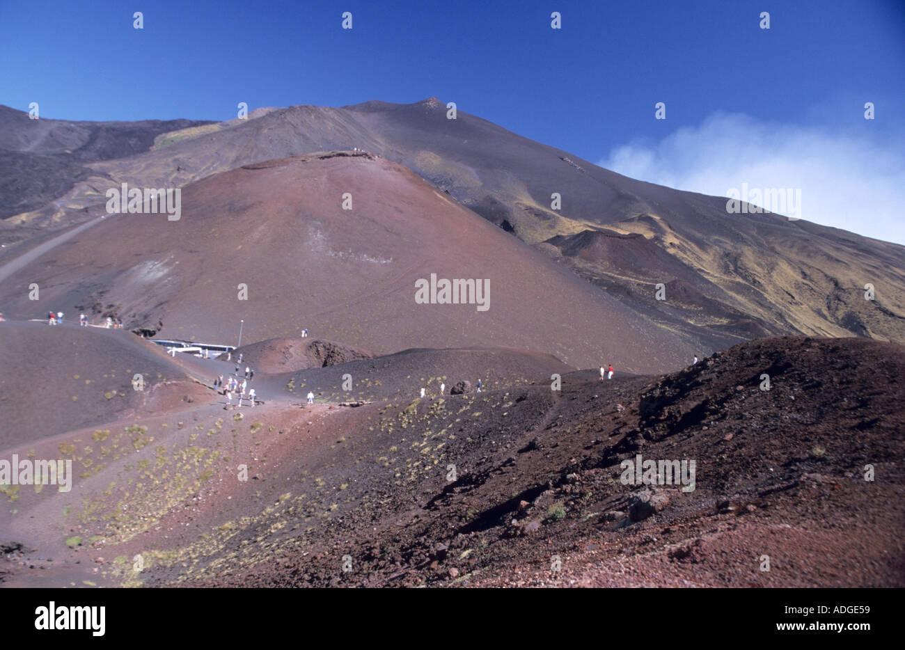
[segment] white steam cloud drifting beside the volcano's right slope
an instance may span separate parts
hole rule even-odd
[[[800,188],[802,219],[905,244],[905,149],[894,141],[716,113],[658,144],[614,148],[598,165],[713,196],[743,183]]]

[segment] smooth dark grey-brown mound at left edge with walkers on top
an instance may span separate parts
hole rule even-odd
[[[158,346],[75,323],[0,323],[0,368],[0,449],[163,405],[187,407],[203,392]]]

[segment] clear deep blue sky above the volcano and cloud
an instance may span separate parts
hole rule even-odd
[[[0,0],[0,103],[38,101],[43,118],[231,119],[239,101],[436,95],[597,161],[715,110],[832,124],[870,98],[900,118],[903,87],[902,0]],[[653,119],[656,101],[668,119]]]

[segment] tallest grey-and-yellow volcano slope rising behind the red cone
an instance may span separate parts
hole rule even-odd
[[[261,160],[357,147],[409,167],[491,223],[666,320],[678,315],[737,339],[805,333],[905,340],[905,250],[897,244],[781,215],[730,215],[725,198],[614,174],[462,110],[447,119],[436,98],[261,109],[250,118],[179,129],[160,136],[153,150],[93,163],[95,178],[17,216],[12,221],[21,227],[6,238],[33,234],[27,225],[51,219],[99,215],[103,192],[122,182],[182,186]],[[59,185],[52,175],[46,182]],[[558,210],[553,193],[561,197]],[[653,266],[621,263],[626,256]],[[655,299],[660,283],[665,300]],[[873,301],[863,299],[867,283]]]

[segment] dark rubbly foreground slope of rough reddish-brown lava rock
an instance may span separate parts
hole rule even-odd
[[[901,587],[903,370],[900,346],[761,339],[653,381],[572,375],[561,397],[541,385],[361,407],[369,453],[348,430],[331,445],[361,469],[314,470],[341,504],[328,521],[277,503],[277,483],[263,501],[295,535],[259,521],[190,584]],[[696,473],[626,485],[637,454]],[[346,504],[336,483],[381,472],[383,488]],[[167,581],[188,578],[169,566]]]

